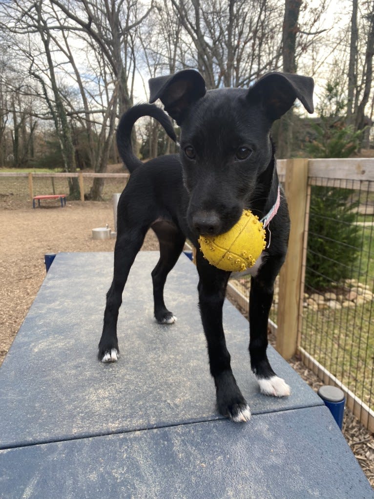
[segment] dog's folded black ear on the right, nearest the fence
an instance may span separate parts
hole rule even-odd
[[[298,98],[308,113],[314,112],[313,78],[290,73],[268,73],[248,90],[247,98],[261,102],[274,121],[287,112]]]

